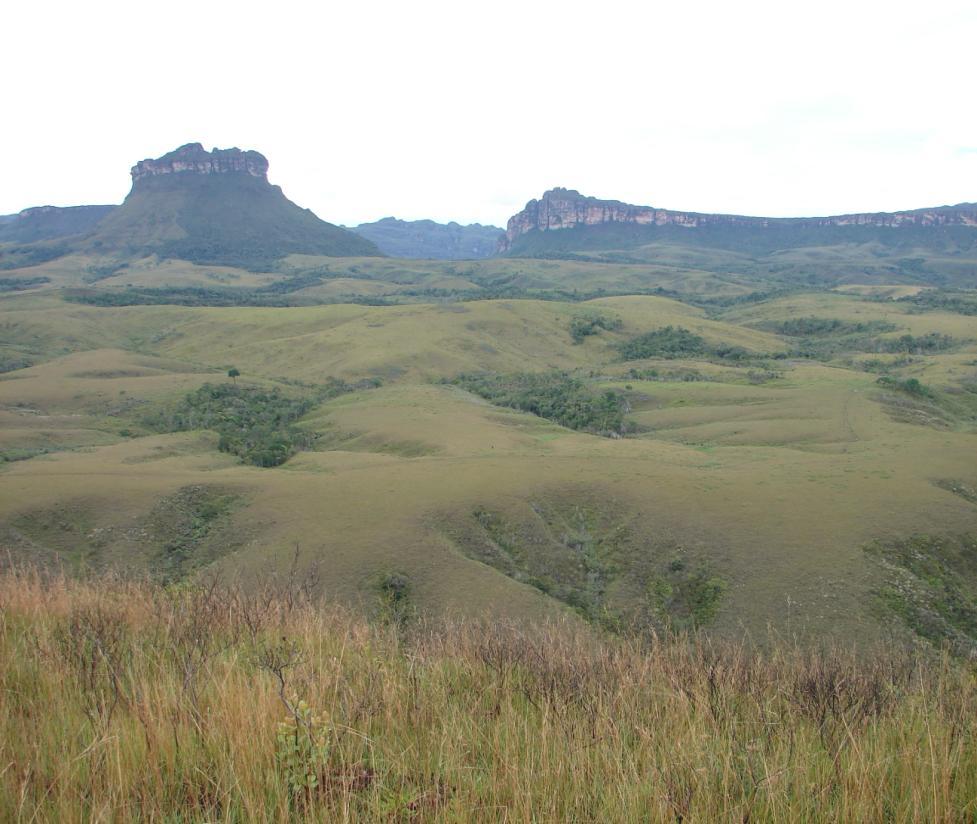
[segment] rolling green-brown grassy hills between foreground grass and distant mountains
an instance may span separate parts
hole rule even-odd
[[[427,266],[365,260],[339,265],[357,281]],[[523,276],[641,271],[539,264]],[[472,278],[513,265],[445,264]],[[0,305],[0,540],[16,557],[258,580],[297,545],[303,568],[322,562],[321,593],[352,606],[397,575],[434,614],[977,643],[966,622],[888,597],[896,580],[936,596],[897,549],[869,550],[916,536],[956,593],[933,614],[974,607],[970,573],[939,553],[977,533],[975,316],[843,292],[102,308],[42,289]],[[636,340],[659,348],[628,360]],[[577,403],[566,387],[611,393],[625,436],[493,404],[450,383],[462,373],[536,373],[550,408]],[[308,409],[264,434],[247,421],[273,405],[236,418],[247,443],[284,433],[296,454],[261,468],[222,451],[212,417],[172,423],[221,382],[242,403],[253,387]]]

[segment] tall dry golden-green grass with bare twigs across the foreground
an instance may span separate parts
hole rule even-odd
[[[973,821],[946,658],[0,576],[0,820]]]

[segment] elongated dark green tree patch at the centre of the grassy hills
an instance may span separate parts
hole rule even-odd
[[[469,373],[451,383],[497,406],[530,412],[569,429],[608,437],[628,430],[627,401],[620,393],[593,392],[566,372]]]

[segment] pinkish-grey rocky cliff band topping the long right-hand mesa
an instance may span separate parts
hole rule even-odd
[[[768,226],[972,226],[977,227],[977,204],[940,206],[908,212],[834,215],[813,218],[767,218],[743,215],[714,215],[676,212],[652,206],[632,206],[619,200],[598,200],[574,189],[551,189],[539,200],[530,200],[518,214],[509,218],[499,251],[507,252],[513,243],[532,231],[569,229],[625,223],[647,226],[736,226],[762,229]]]

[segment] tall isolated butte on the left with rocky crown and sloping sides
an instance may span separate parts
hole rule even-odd
[[[132,190],[86,245],[195,263],[264,267],[292,253],[376,256],[358,235],[296,206],[254,151],[188,143],[132,167]]]

